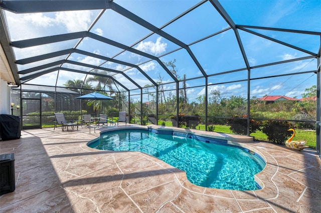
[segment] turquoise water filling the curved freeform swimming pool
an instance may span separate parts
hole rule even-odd
[[[88,146],[102,150],[140,151],[153,155],[186,171],[194,184],[222,189],[256,190],[254,174],[265,163],[243,150],[199,141],[184,134],[155,134],[148,130],[128,129],[105,132]]]

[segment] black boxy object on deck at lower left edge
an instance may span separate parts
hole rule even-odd
[[[15,189],[15,153],[0,154],[0,195]]]

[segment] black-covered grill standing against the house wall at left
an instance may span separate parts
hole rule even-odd
[[[0,114],[1,140],[18,139],[21,136],[20,117],[11,114]]]

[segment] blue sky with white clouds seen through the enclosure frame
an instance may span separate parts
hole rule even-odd
[[[114,2],[189,45],[192,55],[186,49],[181,48],[178,44],[161,35],[150,35],[150,30],[111,9],[103,12],[102,10],[86,10],[24,14],[15,14],[6,11],[6,21],[11,40],[17,41],[90,29],[92,33],[127,46],[132,46],[134,49],[148,53],[149,55],[159,57],[161,62],[175,60],[177,74],[180,78],[183,78],[184,74],[187,79],[197,78],[186,82],[187,87],[190,87],[187,89],[190,102],[196,101],[198,96],[205,94],[205,78],[202,77],[202,70],[200,70],[193,61],[193,56],[201,65],[201,69],[203,69],[207,75],[210,75],[208,77],[208,83],[211,84],[208,87],[209,92],[220,90],[223,97],[229,97],[231,95],[247,97],[246,80],[248,78],[248,71],[245,69],[246,64],[235,32],[209,1],[205,1],[199,7],[182,17],[180,17],[180,15],[183,12],[200,3],[200,1],[114,0]],[[320,0],[219,0],[219,2],[237,25],[321,32]],[[98,15],[101,15],[101,17],[97,22],[93,23]],[[169,23],[173,18],[177,18],[177,20]],[[237,32],[241,38],[246,58],[251,67],[309,56],[309,52],[317,53],[320,47],[320,35],[263,29],[250,30],[308,51],[300,51],[249,33],[248,31],[238,29]],[[209,36],[213,34],[215,35]],[[209,37],[206,38],[207,36]],[[144,37],[145,39],[141,40],[141,38]],[[90,37],[85,37],[81,40],[73,39],[21,49],[14,47],[14,52],[17,59],[22,59],[52,51],[73,48],[76,45],[78,49],[84,51],[106,57],[113,57],[117,60],[138,65],[139,68],[154,81],[162,79],[163,83],[173,82],[173,78],[164,70],[161,62],[133,52],[124,51],[122,48],[106,44]],[[68,55],[61,55],[30,64],[18,64],[18,69],[25,70],[34,66],[65,59],[67,56]],[[105,68],[123,71],[140,86],[152,84],[140,70],[121,63],[106,62],[105,60],[79,53],[72,53],[68,56],[68,60],[91,65],[101,65]],[[315,70],[316,66],[317,60],[315,58],[309,58],[272,66],[252,68],[250,78],[253,78],[253,80],[251,80],[250,83],[250,97],[286,95],[300,98],[306,88],[316,84],[316,74],[308,72]],[[92,70],[92,68],[71,63],[64,64],[62,67],[83,71]],[[236,69],[240,69],[240,71],[228,73]],[[305,71],[308,73],[265,78],[267,76]],[[224,74],[218,74],[221,72]],[[85,77],[85,74],[61,70],[59,74],[58,71],[52,71],[30,80],[28,83],[44,84],[45,82],[45,85],[54,86],[57,84],[57,86],[63,86],[68,79],[84,80]],[[126,79],[125,75],[116,73],[113,74],[113,77],[128,89],[137,88],[134,83]],[[164,89],[175,89],[175,84],[166,84]],[[139,90],[131,93],[135,94],[137,92],[139,92]],[[175,94],[174,91],[172,91],[172,93]]]

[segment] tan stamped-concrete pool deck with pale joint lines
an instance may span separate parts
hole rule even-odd
[[[263,188],[213,189],[144,153],[89,148],[103,129],[30,129],[0,141],[1,154],[15,153],[16,171],[16,190],[0,196],[0,212],[321,212],[315,150],[239,142],[266,159],[256,177]]]

